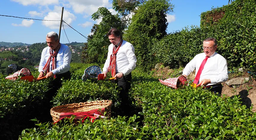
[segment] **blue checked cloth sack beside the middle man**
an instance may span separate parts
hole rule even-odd
[[[85,69],[85,73],[82,76],[82,80],[86,81],[87,79],[91,79],[92,81],[98,80],[98,75],[101,74],[101,69],[99,66],[91,66]]]

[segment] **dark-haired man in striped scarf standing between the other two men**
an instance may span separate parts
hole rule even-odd
[[[111,44],[108,46],[108,57],[103,67],[104,78],[107,72],[111,71],[115,82],[122,88],[120,97],[121,106],[128,102],[127,92],[131,88],[131,71],[136,67],[136,56],[131,43],[122,40],[121,32],[116,28],[111,28],[107,34]],[[126,108],[129,109],[129,108]]]

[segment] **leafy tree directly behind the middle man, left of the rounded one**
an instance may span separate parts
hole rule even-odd
[[[122,30],[127,25],[122,24],[118,14],[112,15],[105,7],[100,7],[97,12],[93,13],[92,19],[102,19],[102,21],[99,25],[94,24],[91,30],[92,35],[88,36],[86,54],[89,59],[87,59],[87,62],[103,63],[107,58],[108,45],[110,44],[106,37],[108,30],[112,27]]]

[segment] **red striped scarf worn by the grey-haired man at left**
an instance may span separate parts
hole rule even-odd
[[[45,74],[49,73],[50,72],[50,62],[51,62],[51,59],[53,59],[53,62],[52,62],[52,70],[56,69],[56,60],[55,60],[55,57],[57,56],[58,54],[58,51],[59,51],[59,48],[60,48],[60,43],[59,45],[57,46],[57,48],[54,50],[54,52],[52,51],[52,49],[50,49],[50,56],[45,64],[45,66],[43,67],[43,72]],[[52,53],[53,52],[53,53]],[[54,75],[54,77],[56,78],[56,76]]]

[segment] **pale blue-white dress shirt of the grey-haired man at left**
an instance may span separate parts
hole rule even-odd
[[[50,47],[45,47],[42,51],[41,60],[39,64],[39,72],[43,71],[43,67],[45,66],[48,58],[50,56]],[[52,70],[52,59],[50,62],[50,71],[53,72],[53,74],[62,74],[65,72],[68,72],[70,70],[70,61],[71,61],[71,51],[68,46],[61,44],[58,54],[55,58],[56,60],[56,69]]]

